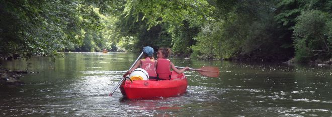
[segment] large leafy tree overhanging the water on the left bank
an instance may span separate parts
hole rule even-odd
[[[52,56],[82,44],[84,29],[99,28],[99,17],[82,1],[1,1],[0,56]]]

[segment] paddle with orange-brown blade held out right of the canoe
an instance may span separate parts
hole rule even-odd
[[[176,68],[181,68],[183,69],[184,67],[178,67],[175,66]],[[213,66],[203,66],[199,69],[194,69],[194,68],[189,68],[189,70],[195,70],[198,71],[201,75],[208,76],[208,77],[218,77],[219,76],[219,68],[218,67],[213,67]]]

